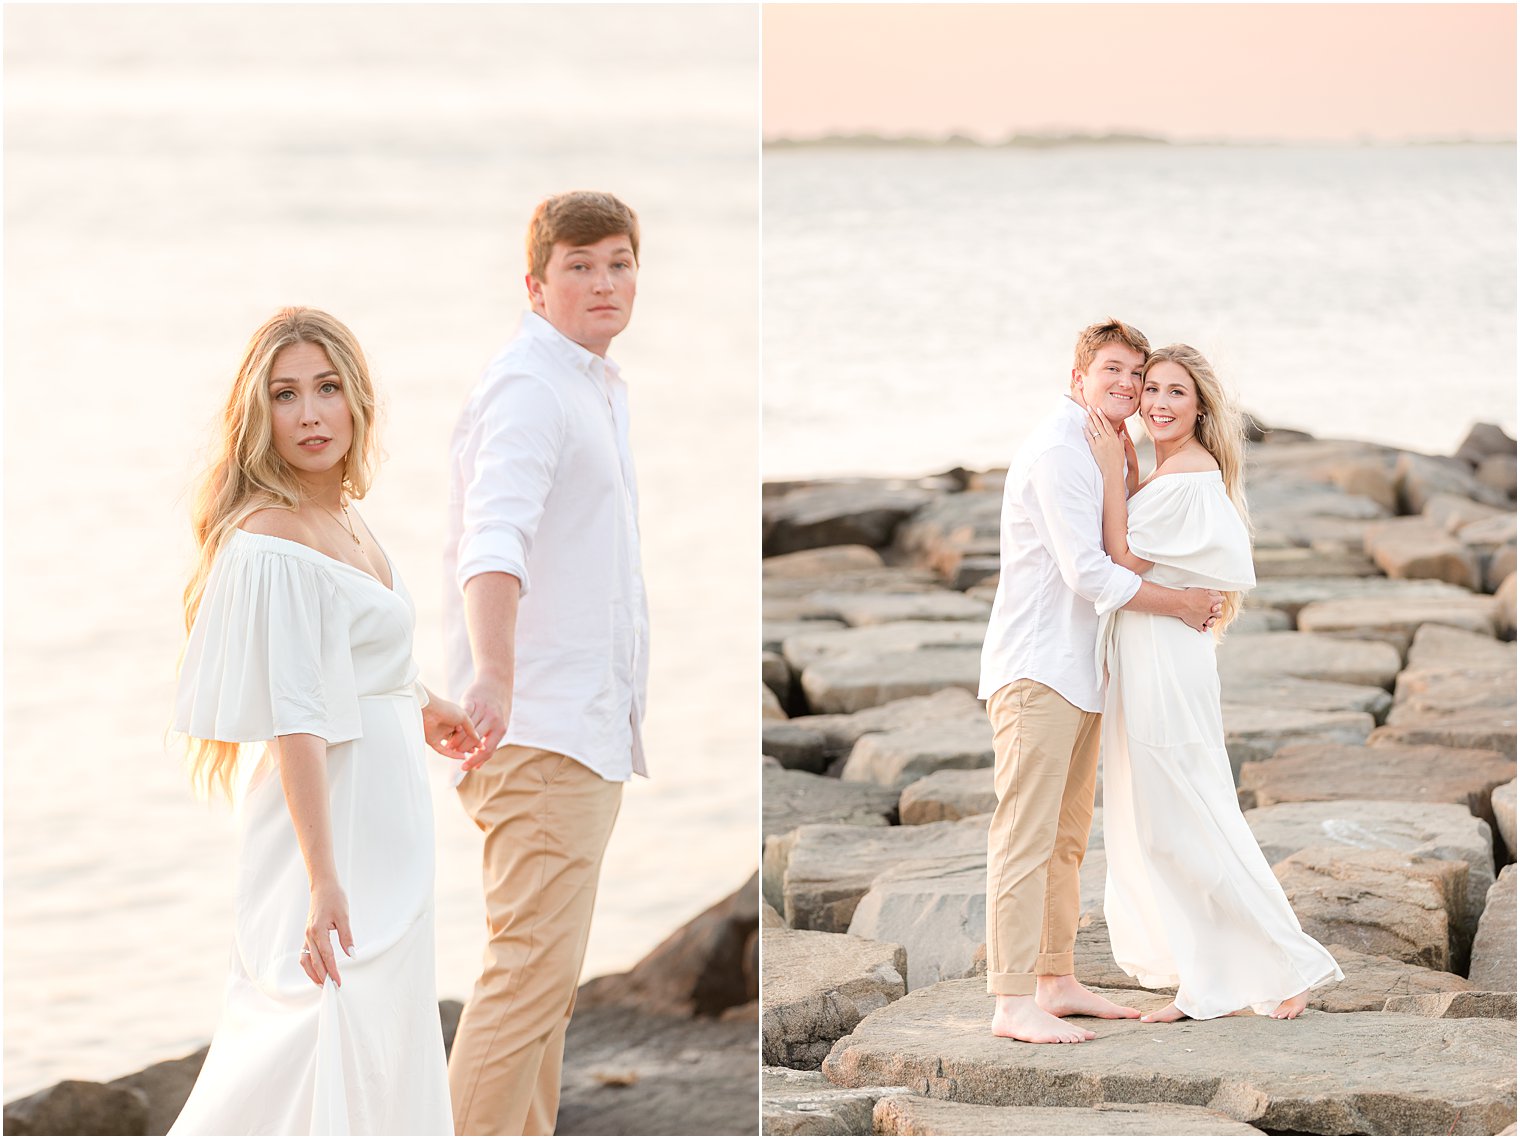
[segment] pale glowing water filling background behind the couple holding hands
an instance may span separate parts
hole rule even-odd
[[[21,6],[5,12],[5,1096],[208,1039],[231,823],[164,731],[187,493],[249,332],[356,332],[388,459],[360,509],[442,687],[448,433],[521,310],[546,193],[641,216],[632,385],[654,619],[648,750],[587,975],[758,849],[757,20],[742,8]],[[439,991],[483,947],[445,782]]]

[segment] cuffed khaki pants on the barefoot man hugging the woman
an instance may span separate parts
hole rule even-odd
[[[986,835],[986,991],[1028,996],[1037,976],[1073,972],[1102,716],[1034,680],[1000,687],[986,713],[997,788]]]

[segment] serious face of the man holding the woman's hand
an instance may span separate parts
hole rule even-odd
[[[527,275],[534,312],[597,356],[628,327],[637,290],[638,260],[628,234],[594,245],[555,242],[544,278]]]

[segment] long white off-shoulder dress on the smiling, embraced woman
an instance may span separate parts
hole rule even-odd
[[[1219,471],[1164,474],[1129,499],[1129,549],[1160,585],[1256,585],[1251,540]],[[1104,703],[1104,914],[1114,961],[1176,985],[1204,1020],[1272,1011],[1342,978],[1303,932],[1236,798],[1214,639],[1176,617],[1117,611],[1099,640]]]

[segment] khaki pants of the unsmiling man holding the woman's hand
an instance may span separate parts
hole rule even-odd
[[[485,832],[485,970],[448,1057],[459,1134],[553,1134],[596,880],[623,785],[505,747],[459,785]]]

